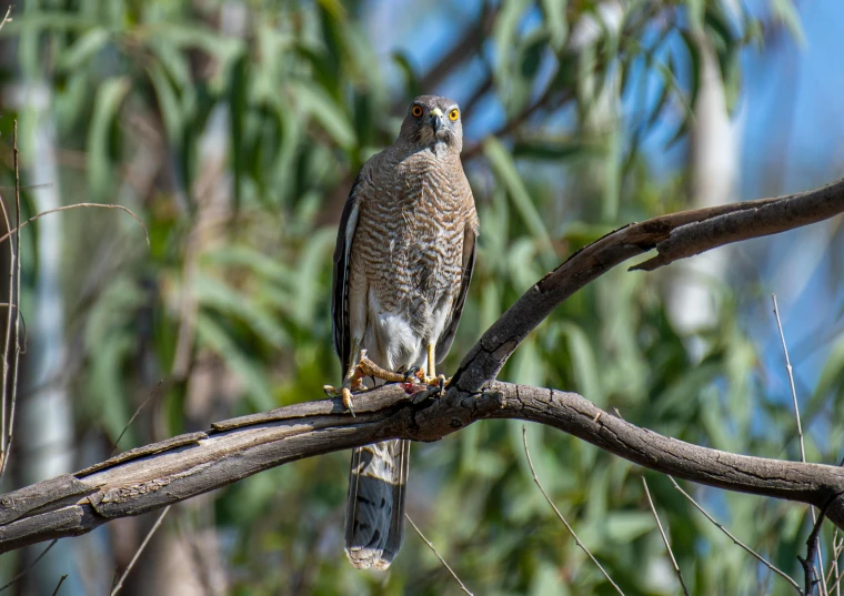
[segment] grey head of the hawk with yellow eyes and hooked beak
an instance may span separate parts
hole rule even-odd
[[[408,108],[399,138],[419,149],[436,150],[444,145],[460,153],[463,149],[463,124],[458,103],[439,95],[418,97]]]

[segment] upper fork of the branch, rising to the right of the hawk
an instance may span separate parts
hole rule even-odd
[[[732,242],[762,238],[844,213],[844,180],[775,199],[681,211],[632,223],[581,249],[528,290],[469,351],[454,375],[466,392],[495,378],[520,343],[574,292],[624,261],[656,250],[633,270],[667,265]]]

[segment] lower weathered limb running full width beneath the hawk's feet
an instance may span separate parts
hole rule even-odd
[[[121,454],[0,498],[0,553],[84,534],[117,517],[184,501],[278,466],[333,451],[402,437],[436,441],[484,418],[547,424],[651,469],[757,495],[824,506],[844,528],[844,469],[699,447],[640,428],[575,394],[495,382],[483,394],[413,403],[398,385],[355,398],[308,402],[215,424]]]

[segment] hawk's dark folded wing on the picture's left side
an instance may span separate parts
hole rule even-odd
[[[362,171],[361,171],[362,173]],[[349,199],[343,206],[340,218],[340,229],[336,233],[336,246],[334,248],[334,277],[331,292],[331,323],[334,333],[334,351],[340,356],[342,373],[349,370],[352,355],[350,354],[351,337],[349,329],[349,265],[352,256],[352,242],[354,232],[358,230],[358,216],[360,214],[361,174],[349,191]]]

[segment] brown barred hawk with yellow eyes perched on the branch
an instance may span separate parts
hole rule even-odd
[[[436,382],[475,261],[478,214],[460,152],[460,108],[413,100],[392,145],[363,164],[343,209],[334,251],[332,322],[352,414],[363,354],[403,380]],[[442,384],[442,376],[440,377]],[[386,569],[404,539],[410,442],[355,448],[349,475],[345,553],[354,567]]]

